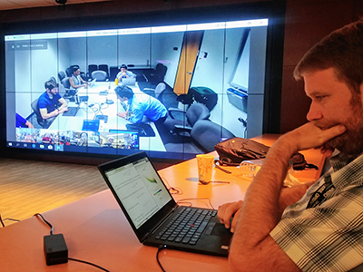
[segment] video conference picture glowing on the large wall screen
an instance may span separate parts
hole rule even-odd
[[[262,133],[268,19],[5,35],[9,148],[188,160]]]

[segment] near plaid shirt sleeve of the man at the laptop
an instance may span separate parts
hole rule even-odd
[[[362,188],[349,189],[316,208],[287,212],[270,236],[301,271],[348,271],[363,263],[362,196]]]

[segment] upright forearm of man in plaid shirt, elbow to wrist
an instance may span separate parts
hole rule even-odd
[[[236,234],[244,248],[255,247],[280,220],[280,192],[295,152],[283,139],[270,151],[246,193]]]

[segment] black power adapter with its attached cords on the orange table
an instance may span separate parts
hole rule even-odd
[[[68,257],[68,248],[65,244],[65,239],[63,234],[54,234],[53,230],[54,227],[51,223],[49,223],[46,219],[44,219],[44,216],[40,213],[35,213],[34,216],[41,217],[41,219],[44,221],[46,225],[48,225],[51,228],[50,235],[44,236],[44,256],[45,256],[45,262],[47,266],[53,266],[58,264],[64,264],[67,263],[68,260],[73,260],[77,262],[81,262],[83,264],[87,264],[93,267],[100,268],[103,271],[110,272],[109,270],[97,266],[93,263],[83,261],[80,259],[76,259],[73,257]]]

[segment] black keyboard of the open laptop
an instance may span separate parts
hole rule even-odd
[[[162,228],[162,231],[155,238],[195,245],[204,228],[207,227],[211,218],[216,215],[217,210],[182,208],[179,214]]]

